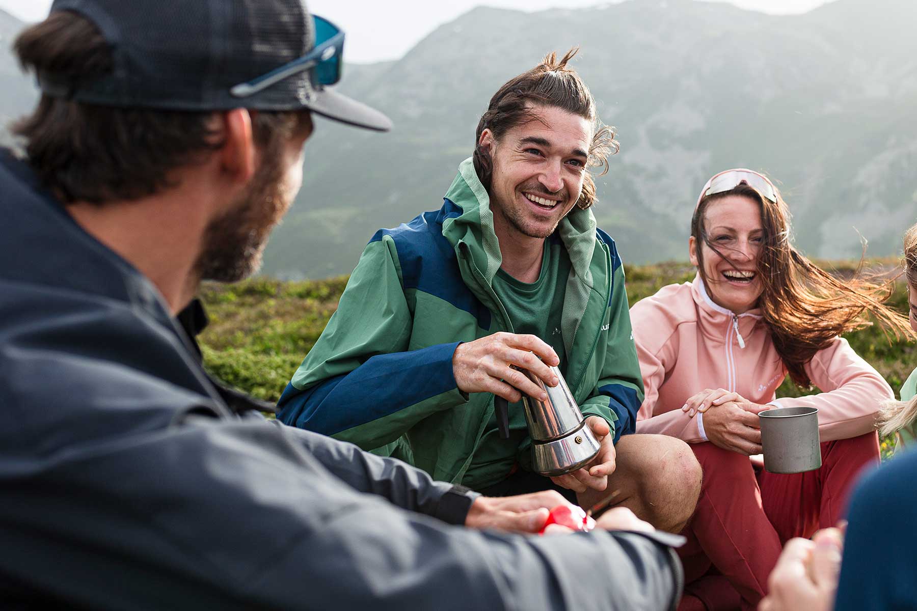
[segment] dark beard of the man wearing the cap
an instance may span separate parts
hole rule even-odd
[[[265,161],[249,189],[207,226],[201,254],[194,264],[197,278],[237,282],[260,269],[271,229],[289,206],[278,171],[282,164],[279,159],[277,163]]]

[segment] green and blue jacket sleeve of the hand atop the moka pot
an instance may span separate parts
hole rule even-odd
[[[283,392],[282,422],[370,450],[467,401],[452,371],[458,342],[412,345],[400,269],[391,237],[367,245],[337,311]]]

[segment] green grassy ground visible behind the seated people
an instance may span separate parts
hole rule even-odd
[[[891,262],[876,264],[888,268]],[[823,262],[823,266],[842,275],[853,269],[845,262]],[[667,284],[691,280],[693,275],[693,268],[682,263],[629,267],[627,297],[633,304]],[[301,282],[255,278],[232,286],[205,285],[202,298],[211,318],[201,337],[205,364],[226,382],[256,397],[276,401],[337,308],[346,284],[347,277],[341,276]],[[896,290],[892,303],[907,311],[903,286]],[[917,345],[889,340],[876,327],[851,333],[847,339],[896,393],[917,366]],[[787,380],[778,396],[808,392],[814,390],[794,387]]]

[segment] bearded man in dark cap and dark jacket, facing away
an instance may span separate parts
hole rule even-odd
[[[329,88],[343,42],[300,0],[57,0],[17,38],[42,96],[0,154],[5,606],[677,601],[677,538],[626,510],[513,534],[565,501],[435,482],[204,373],[174,316],[258,268],[313,117],[390,127]]]

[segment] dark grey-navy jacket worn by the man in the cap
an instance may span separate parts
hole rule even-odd
[[[239,417],[156,289],[0,159],[5,606],[665,609],[664,535],[455,526],[473,493]],[[451,523],[450,523],[451,522]]]

